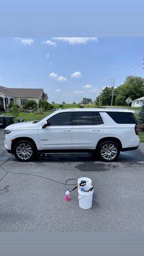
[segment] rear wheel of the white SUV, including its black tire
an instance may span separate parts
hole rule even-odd
[[[118,156],[120,155],[120,147],[114,141],[104,141],[100,143],[99,147],[96,150],[96,154],[99,159],[104,162],[114,162],[118,159]]]

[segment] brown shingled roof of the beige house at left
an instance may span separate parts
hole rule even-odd
[[[0,92],[9,97],[23,97],[23,98],[38,98],[41,95],[45,95],[43,89],[35,88],[6,88],[0,86]]]

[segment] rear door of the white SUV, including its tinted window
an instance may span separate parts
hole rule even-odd
[[[76,111],[73,116],[72,148],[95,149],[104,129],[99,112]]]

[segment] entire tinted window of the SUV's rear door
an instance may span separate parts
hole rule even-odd
[[[102,118],[98,112],[92,111],[79,111],[74,113],[74,125],[98,125],[103,124]]]

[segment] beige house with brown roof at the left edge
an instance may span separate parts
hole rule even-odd
[[[35,100],[38,104],[40,100],[47,100],[47,93],[43,89],[34,88],[6,88],[0,86],[0,105],[4,109],[8,108],[10,102],[24,106],[27,100]]]

